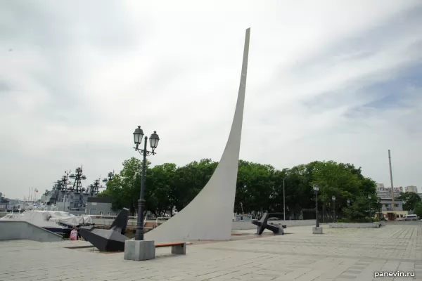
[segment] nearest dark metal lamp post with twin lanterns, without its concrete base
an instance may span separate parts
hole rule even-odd
[[[142,142],[143,138],[143,131],[141,129],[141,126],[138,126],[138,128],[134,131],[134,143],[135,147],[134,149],[139,152],[140,155],[143,156],[143,162],[142,162],[142,178],[141,178],[141,195],[139,195],[138,200],[138,219],[136,221],[136,234],[135,234],[135,240],[143,240],[143,207],[145,207],[145,200],[143,199],[143,195],[145,192],[145,171],[146,171],[146,157],[149,155],[155,155],[155,148],[158,146],[158,141],[160,141],[160,138],[158,137],[158,134],[156,131],[151,134],[150,136],[150,147],[152,151],[146,150],[146,145],[148,143],[148,136],[145,136],[144,143],[143,143],[143,150],[139,149],[139,145]]]

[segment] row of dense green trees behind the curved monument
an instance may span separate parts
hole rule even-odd
[[[217,164],[211,159],[201,159],[185,166],[165,163],[151,167],[151,163],[147,162],[146,210],[155,216],[180,211],[210,180]],[[336,210],[345,211],[353,217],[363,216],[361,205],[368,206],[364,199],[368,195],[373,198],[371,206],[377,208],[376,183],[363,176],[361,168],[353,164],[315,161],[278,170],[269,164],[239,160],[234,211],[249,214],[283,211],[283,188],[286,209],[300,211],[315,208],[314,184],[320,186],[318,199],[323,208],[333,210],[331,198],[335,196]],[[99,196],[110,197],[113,209],[128,207],[133,213],[141,187],[141,160],[135,157],[125,160],[120,174],[106,185],[107,189]],[[347,199],[352,201],[354,209],[345,210]]]

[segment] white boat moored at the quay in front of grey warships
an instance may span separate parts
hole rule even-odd
[[[53,233],[68,233],[72,228],[93,224],[89,216],[75,216],[65,211],[29,210],[22,214],[7,214],[1,219],[27,221]]]

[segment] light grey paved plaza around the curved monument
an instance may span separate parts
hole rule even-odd
[[[0,242],[0,280],[422,280],[420,224],[324,227],[324,235],[312,235],[312,226],[286,230],[286,235],[191,244],[186,256],[162,248],[151,261],[66,248],[88,244],[82,241]],[[415,277],[374,278],[379,271]]]

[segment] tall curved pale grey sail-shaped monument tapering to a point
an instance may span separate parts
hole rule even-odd
[[[246,30],[241,84],[236,111],[226,148],[210,181],[176,216],[145,234],[145,240],[174,242],[187,240],[229,240],[236,195],[243,106],[248,70],[250,28]]]

